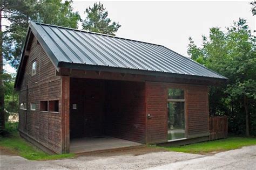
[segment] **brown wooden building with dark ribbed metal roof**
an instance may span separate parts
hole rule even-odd
[[[208,86],[225,80],[164,46],[31,22],[15,82],[19,132],[52,153],[75,138],[208,140]]]

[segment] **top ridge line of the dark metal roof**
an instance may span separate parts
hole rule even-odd
[[[118,39],[129,40],[129,41],[142,42],[142,43],[145,43],[145,44],[163,46],[163,45],[154,44],[154,43],[151,43],[151,42],[133,40],[133,39],[123,38],[123,37],[117,37],[117,36],[111,36],[111,35],[109,35],[109,34],[104,34],[104,33],[98,33],[98,32],[92,32],[92,31],[85,31],[85,30],[79,30],[79,29],[72,29],[72,28],[70,28],[70,27],[65,27],[65,26],[58,26],[58,25],[52,25],[52,24],[45,24],[45,23],[33,22],[32,20],[30,21],[30,23],[35,23],[35,24],[40,24],[40,25],[47,25],[47,26],[53,26],[53,27],[60,27],[60,28],[63,28],[63,29],[69,29],[69,30],[74,30],[74,31],[81,31],[81,32],[86,32],[86,33],[91,33],[91,34],[97,34],[97,35],[100,35],[100,36],[106,36],[106,37],[112,37],[112,38],[118,38]]]

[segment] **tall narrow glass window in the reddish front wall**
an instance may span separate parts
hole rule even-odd
[[[185,98],[183,89],[168,89],[168,140],[185,138]]]

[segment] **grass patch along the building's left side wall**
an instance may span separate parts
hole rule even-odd
[[[9,132],[8,136],[0,136],[0,146],[10,151],[10,153],[18,154],[23,158],[29,160],[54,160],[63,158],[72,158],[75,154],[53,154],[39,150],[37,147],[31,145],[18,135],[17,123],[6,123],[6,131]]]

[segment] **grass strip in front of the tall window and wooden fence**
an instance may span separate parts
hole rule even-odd
[[[226,139],[205,141],[196,144],[176,146],[176,147],[161,147],[168,151],[206,154],[210,152],[221,152],[241,148],[242,146],[256,145],[256,138],[246,137],[229,137]]]

